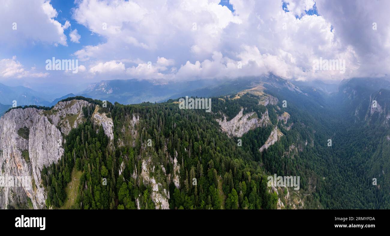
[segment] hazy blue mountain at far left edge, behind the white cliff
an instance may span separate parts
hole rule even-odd
[[[47,95],[34,91],[30,88],[23,86],[6,86],[0,84],[0,103],[13,104],[13,101],[17,101],[17,105],[48,105],[49,98]]]

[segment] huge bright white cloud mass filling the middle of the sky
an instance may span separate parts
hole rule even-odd
[[[145,62],[124,65],[127,75],[140,79],[271,72],[286,79],[340,80],[359,68],[354,47],[335,37],[332,23],[323,16],[307,15],[314,0],[230,0],[234,12],[219,2],[80,1],[74,19],[106,42],[84,46],[74,55],[83,61],[153,61],[158,56],[152,68]],[[347,59],[349,70],[314,71],[313,61],[320,57]]]

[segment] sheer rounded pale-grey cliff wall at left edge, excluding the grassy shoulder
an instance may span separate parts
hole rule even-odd
[[[20,130],[28,130],[21,136]],[[46,199],[40,187],[43,165],[57,162],[64,154],[60,130],[36,108],[13,109],[0,119],[0,167],[2,175],[32,177],[24,187],[7,185],[0,189],[0,208],[26,206],[42,208]]]

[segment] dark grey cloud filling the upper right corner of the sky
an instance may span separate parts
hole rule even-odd
[[[365,77],[389,74],[390,2],[348,0],[330,4],[317,0],[317,8],[332,23],[340,47],[350,48],[356,55],[356,75]],[[348,59],[347,55],[344,58]]]

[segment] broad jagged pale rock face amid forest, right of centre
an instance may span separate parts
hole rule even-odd
[[[223,119],[217,119],[222,130],[229,136],[241,137],[251,129],[265,127],[270,124],[268,110],[262,114],[261,118],[257,117],[255,112],[243,115],[243,111],[244,109],[241,108],[241,111],[230,121],[226,120],[225,115],[223,115]]]

